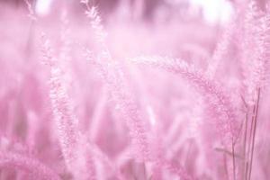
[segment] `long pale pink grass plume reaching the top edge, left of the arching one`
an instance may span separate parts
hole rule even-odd
[[[132,94],[129,93],[130,90],[121,66],[117,61],[112,60],[110,51],[105,45],[106,33],[103,30],[97,8],[90,7],[88,1],[81,1],[81,3],[86,5],[85,14],[91,20],[95,38],[102,48],[97,56],[98,67],[130,130],[132,153],[138,161],[146,161],[148,159],[148,138],[145,122],[139,112],[139,106],[135,103]]]

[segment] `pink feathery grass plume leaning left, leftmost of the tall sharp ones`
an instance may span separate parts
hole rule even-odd
[[[54,122],[58,132],[58,140],[67,165],[76,179],[94,179],[94,162],[87,148],[86,139],[80,134],[78,120],[67,94],[67,86],[63,82],[63,71],[53,57],[49,40],[43,36],[43,58],[50,68],[50,95]],[[76,171],[74,169],[76,168]]]

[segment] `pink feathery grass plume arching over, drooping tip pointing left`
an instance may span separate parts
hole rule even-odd
[[[166,71],[182,76],[188,80],[190,85],[197,87],[201,94],[204,95],[204,98],[207,99],[209,108],[214,110],[216,125],[220,130],[221,137],[229,143],[235,143],[238,137],[236,112],[229,94],[226,94],[215,81],[204,77],[195,67],[190,67],[177,59],[154,56],[132,58],[131,62],[165,69]]]

